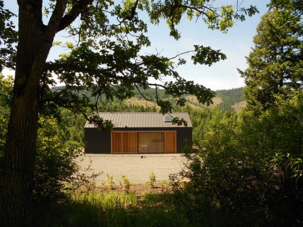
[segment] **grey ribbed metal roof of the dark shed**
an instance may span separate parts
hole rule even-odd
[[[165,116],[159,112],[99,112],[100,118],[112,121],[114,128],[176,128],[184,125],[173,125],[171,121],[165,121]],[[172,117],[184,119],[187,127],[192,127],[188,112],[172,112]],[[95,128],[93,124],[86,122],[84,128]]]

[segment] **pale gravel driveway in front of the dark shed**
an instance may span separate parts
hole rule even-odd
[[[181,171],[185,160],[181,154],[85,154],[78,163],[83,171],[90,164],[86,174],[102,173],[96,178],[96,185],[107,181],[107,173],[114,176],[116,184],[122,175],[133,184],[142,184],[149,181],[151,171],[157,181],[168,181],[170,174]]]

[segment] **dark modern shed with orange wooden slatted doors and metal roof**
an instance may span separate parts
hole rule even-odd
[[[101,112],[100,118],[112,121],[114,131],[100,131],[86,122],[85,153],[180,153],[192,140],[192,125],[187,112],[173,112],[187,127],[172,124],[172,117],[158,112]]]

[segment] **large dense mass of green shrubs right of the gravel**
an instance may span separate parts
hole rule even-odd
[[[276,97],[259,117],[213,110],[199,128],[195,154],[174,176],[174,191],[189,220],[201,225],[303,223],[301,92]],[[189,179],[180,187],[178,178]]]

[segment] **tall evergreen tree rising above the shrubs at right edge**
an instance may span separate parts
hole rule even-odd
[[[255,48],[250,52],[248,69],[240,74],[245,79],[244,97],[247,108],[255,113],[275,102],[275,94],[302,88],[302,35],[300,16],[285,11],[276,20],[275,10],[266,13],[257,27]]]

